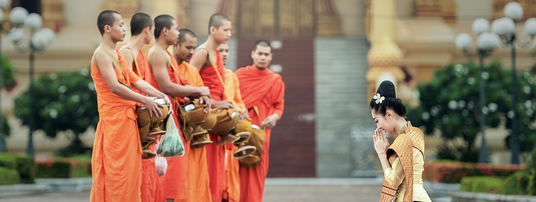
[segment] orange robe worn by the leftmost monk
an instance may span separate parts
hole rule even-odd
[[[132,86],[139,81],[121,53],[117,79]],[[96,127],[91,159],[93,185],[91,201],[141,201],[142,146],[136,122],[136,102],[123,99],[110,91],[99,68],[91,60],[91,77],[95,84],[99,123]],[[120,134],[120,135],[118,135]]]

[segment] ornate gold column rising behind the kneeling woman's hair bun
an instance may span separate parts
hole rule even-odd
[[[367,61],[369,71],[366,78],[368,95],[372,98],[376,94],[376,87],[381,80],[391,80],[395,87],[397,81],[404,79],[404,72],[400,69],[402,52],[394,43],[395,0],[371,0],[369,34],[371,48]]]

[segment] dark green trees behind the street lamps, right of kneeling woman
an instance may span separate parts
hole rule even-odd
[[[418,90],[421,104],[408,110],[408,118],[414,126],[425,126],[426,134],[438,131],[445,141],[462,138],[464,145],[452,148],[442,144],[438,158],[477,161],[475,138],[479,132],[479,76],[480,71],[472,63],[451,64],[436,69],[428,83],[420,83]],[[486,126],[511,127],[512,98],[511,70],[503,70],[494,61],[485,67],[482,77],[486,80]],[[531,151],[536,142],[536,86],[528,71],[518,71],[518,129],[521,151]],[[510,135],[505,139],[510,146]]]

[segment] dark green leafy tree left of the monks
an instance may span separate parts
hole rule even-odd
[[[59,131],[71,131],[71,145],[58,152],[63,155],[84,153],[79,135],[99,121],[96,92],[88,68],[72,73],[40,76],[34,81],[34,130],[42,130],[51,138]],[[14,100],[15,116],[28,126],[28,90]]]

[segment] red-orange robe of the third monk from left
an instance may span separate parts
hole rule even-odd
[[[151,50],[151,49],[148,49],[148,50]],[[147,52],[146,54],[149,54],[149,53],[150,52]],[[167,52],[166,57],[171,59],[175,68],[178,67],[177,61],[175,60],[175,58],[171,56],[169,52]],[[171,65],[167,67],[167,71],[168,71],[169,79],[171,80],[171,82],[181,84],[181,85],[188,84],[188,81],[185,80],[179,72],[173,71],[173,68],[171,67]],[[158,86],[157,81],[154,79],[152,68],[150,68],[150,74],[151,74],[151,79],[152,79],[151,84],[153,85],[154,88],[157,88],[158,90],[160,90],[160,87]],[[184,103],[183,97],[182,98],[175,97],[175,98],[181,104]],[[169,99],[172,100],[172,108],[173,108],[173,111],[175,112],[174,113],[175,125],[180,126],[178,122],[178,118],[176,117],[177,112],[178,112],[178,107],[180,106],[178,106],[175,103],[175,101],[172,99],[171,96],[169,97]],[[188,195],[187,194],[188,193],[187,170],[188,170],[188,157],[190,155],[189,154],[190,153],[190,141],[186,141],[186,139],[184,139],[184,136],[182,135],[182,131],[181,131],[181,139],[184,144],[184,156],[166,158],[168,162],[166,174],[159,177],[160,189],[162,190],[163,195],[166,198],[175,199],[176,201],[177,200],[185,201]]]

